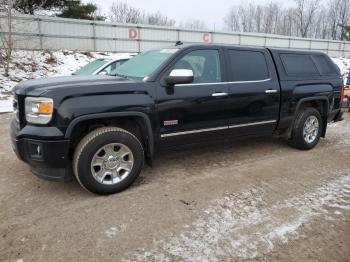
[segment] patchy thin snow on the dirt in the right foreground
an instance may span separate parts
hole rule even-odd
[[[249,188],[212,201],[202,217],[177,236],[155,240],[153,246],[125,261],[224,261],[254,259],[279,243],[298,237],[299,229],[316,218],[344,219],[350,209],[350,176],[339,178],[273,205],[261,188]],[[330,212],[332,210],[332,212]]]

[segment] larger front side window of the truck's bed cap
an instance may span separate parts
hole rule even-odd
[[[316,76],[320,75],[315,63],[307,54],[281,54],[284,69],[289,76]]]

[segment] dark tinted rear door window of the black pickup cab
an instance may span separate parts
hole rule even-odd
[[[228,50],[230,81],[258,81],[269,78],[264,53],[250,50]]]

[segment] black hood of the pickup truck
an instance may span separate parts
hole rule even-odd
[[[74,88],[91,85],[103,85],[113,83],[129,83],[130,79],[116,76],[63,76],[47,77],[34,80],[27,80],[19,83],[14,92],[20,95],[40,96],[43,93],[57,88]]]

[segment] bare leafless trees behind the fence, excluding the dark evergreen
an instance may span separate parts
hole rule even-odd
[[[206,21],[175,21],[166,15],[146,13],[126,2],[112,4],[107,20],[118,23],[210,29]],[[350,40],[350,0],[292,0],[255,4],[242,1],[224,15],[222,29],[333,40]]]

